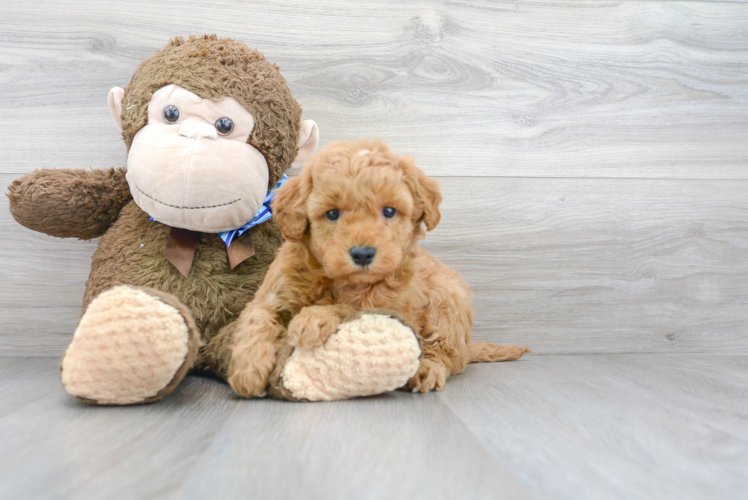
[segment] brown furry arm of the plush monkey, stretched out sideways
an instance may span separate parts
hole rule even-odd
[[[36,170],[8,186],[19,224],[60,238],[101,236],[132,199],[124,168]]]

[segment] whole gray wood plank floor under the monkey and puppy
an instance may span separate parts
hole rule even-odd
[[[528,356],[441,393],[92,407],[0,358],[0,498],[739,499],[748,356]]]

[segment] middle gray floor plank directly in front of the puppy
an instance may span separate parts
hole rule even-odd
[[[272,422],[272,423],[271,423]],[[258,432],[258,430],[260,430]],[[242,446],[234,446],[243,436]],[[234,464],[252,464],[238,468]],[[250,401],[204,450],[179,494],[195,498],[528,498],[444,405],[390,393],[338,405]],[[301,493],[303,492],[303,493]]]

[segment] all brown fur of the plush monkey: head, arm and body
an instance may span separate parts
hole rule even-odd
[[[247,142],[265,157],[269,186],[290,167],[297,152],[301,107],[278,67],[260,52],[215,35],[172,40],[138,67],[125,89],[122,135],[128,150],[147,123],[151,96],[169,84],[204,99],[233,97],[252,113],[255,128]],[[173,294],[189,309],[180,312],[191,312],[208,343],[197,366],[225,377],[232,322],[260,286],[282,243],[280,231],[272,219],[253,228],[256,255],[234,270],[223,241],[203,234],[185,279],[164,258],[171,228],[151,221],[132,201],[124,174],[124,169],[35,171],[10,185],[10,210],[22,225],[52,236],[101,236],[83,311],[101,292],[118,284]]]

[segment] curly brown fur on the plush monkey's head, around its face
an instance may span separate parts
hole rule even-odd
[[[178,85],[203,99],[233,97],[255,119],[247,142],[267,160],[268,187],[275,186],[296,157],[301,123],[301,106],[278,69],[262,53],[235,40],[216,35],[174,38],[140,63],[125,88],[122,137],[128,150],[148,122],[148,103],[161,87]]]

